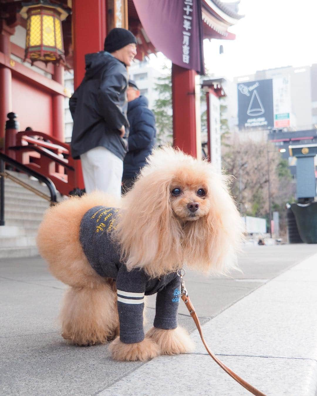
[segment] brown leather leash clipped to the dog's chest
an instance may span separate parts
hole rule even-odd
[[[183,269],[182,269],[183,270]],[[255,396],[266,396],[263,392],[261,392],[260,390],[254,388],[254,386],[250,385],[248,382],[244,381],[244,379],[242,379],[241,377],[239,377],[239,375],[237,375],[235,372],[233,372],[231,369],[229,369],[229,367],[227,367],[225,364],[222,363],[221,360],[219,360],[208,348],[208,345],[206,344],[206,341],[204,340],[204,337],[202,335],[202,329],[201,329],[201,324],[199,322],[198,316],[195,312],[195,308],[193,307],[193,304],[191,303],[186,287],[185,287],[185,282],[183,280],[183,274],[181,273],[181,271],[178,272],[178,275],[181,278],[181,299],[184,301],[187,309],[189,310],[189,313],[191,315],[191,317],[193,318],[196,327],[199,331],[199,334],[201,336],[201,341],[204,344],[204,347],[206,348],[208,354],[214,359],[214,361],[226,372],[230,375],[230,377],[232,377],[233,379],[235,379],[235,381],[237,381],[240,385],[242,385],[244,388],[246,388],[249,392],[251,392],[252,394],[254,394]],[[185,274],[185,270],[184,274]]]

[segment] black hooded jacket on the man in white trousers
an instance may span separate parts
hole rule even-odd
[[[74,120],[71,152],[74,159],[102,146],[123,160],[127,150],[128,74],[124,63],[100,51],[85,55],[86,74],[71,99]],[[124,138],[118,129],[126,128]]]

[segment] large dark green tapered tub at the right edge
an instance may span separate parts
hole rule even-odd
[[[306,244],[317,244],[317,202],[292,204],[300,238]]]

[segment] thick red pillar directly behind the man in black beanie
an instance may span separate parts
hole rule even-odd
[[[106,1],[73,1],[74,88],[85,74],[85,54],[103,50],[106,37]]]

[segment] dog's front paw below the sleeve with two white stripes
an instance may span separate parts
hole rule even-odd
[[[113,360],[118,360],[119,362],[134,362],[136,360],[145,362],[160,354],[159,346],[153,339],[147,337],[143,341],[134,344],[122,343],[118,337],[109,345],[109,350]]]

